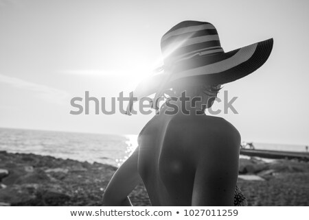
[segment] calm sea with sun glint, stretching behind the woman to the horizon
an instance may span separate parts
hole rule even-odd
[[[304,145],[253,143],[255,149],[306,152]],[[0,127],[0,151],[100,162],[119,167],[137,147],[137,135],[87,134]]]

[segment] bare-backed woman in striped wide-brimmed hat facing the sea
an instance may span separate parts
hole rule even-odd
[[[260,68],[272,47],[269,39],[225,53],[214,25],[200,21],[183,21],[164,34],[163,72],[141,82],[134,95],[169,98],[113,175],[104,205],[130,205],[127,195],[141,180],[152,206],[246,205],[236,186],[240,134],[225,119],[205,115],[205,108],[222,84]]]

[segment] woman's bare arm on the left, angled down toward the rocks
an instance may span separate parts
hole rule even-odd
[[[141,181],[137,171],[138,154],[139,147],[114,173],[105,189],[103,206],[132,206],[128,194]]]

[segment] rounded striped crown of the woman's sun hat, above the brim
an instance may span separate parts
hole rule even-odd
[[[164,64],[196,55],[223,53],[216,27],[208,22],[182,21],[161,38]]]

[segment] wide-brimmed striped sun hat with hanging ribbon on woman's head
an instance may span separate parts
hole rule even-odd
[[[183,21],[161,38],[163,66],[133,92],[141,99],[174,86],[226,84],[260,68],[273,49],[273,38],[225,53],[216,27],[201,21]],[[154,102],[156,103],[156,102]],[[132,96],[127,114],[132,110]],[[157,108],[157,106],[153,106]]]

